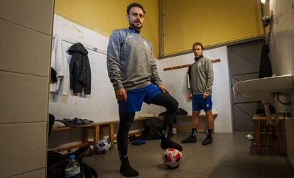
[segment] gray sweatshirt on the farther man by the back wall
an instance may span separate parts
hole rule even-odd
[[[206,57],[202,57],[192,64],[190,88],[191,94],[209,94],[212,95],[213,68],[212,62]],[[189,80],[188,80],[189,82]],[[189,86],[189,85],[188,85]],[[192,87],[192,90],[191,90]]]

